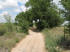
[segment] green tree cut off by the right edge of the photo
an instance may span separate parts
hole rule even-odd
[[[66,21],[69,21],[67,28],[70,34],[70,0],[61,0],[61,3],[65,8]]]

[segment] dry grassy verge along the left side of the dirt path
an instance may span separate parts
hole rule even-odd
[[[10,52],[10,50],[18,43],[26,34],[7,32],[5,35],[0,36],[0,51]]]

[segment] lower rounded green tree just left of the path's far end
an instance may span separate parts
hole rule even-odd
[[[24,33],[28,32],[29,26],[31,24],[29,15],[30,14],[28,12],[26,12],[26,13],[22,12],[22,13],[18,14],[15,19],[17,25],[21,26]]]

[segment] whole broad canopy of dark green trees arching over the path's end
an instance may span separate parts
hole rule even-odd
[[[22,27],[30,27],[35,21],[38,30],[52,28],[61,24],[61,17],[57,7],[52,0],[29,0],[26,7],[30,7],[26,12],[16,16],[16,21]],[[39,19],[39,21],[37,21]],[[27,22],[27,23],[26,23]]]

